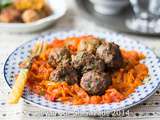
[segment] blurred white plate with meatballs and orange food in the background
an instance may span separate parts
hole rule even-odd
[[[64,0],[2,0],[0,28],[9,32],[33,32],[53,24],[65,12]]]

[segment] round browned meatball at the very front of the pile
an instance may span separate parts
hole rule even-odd
[[[83,74],[80,86],[90,95],[102,95],[111,84],[111,76],[108,73],[89,71]]]

